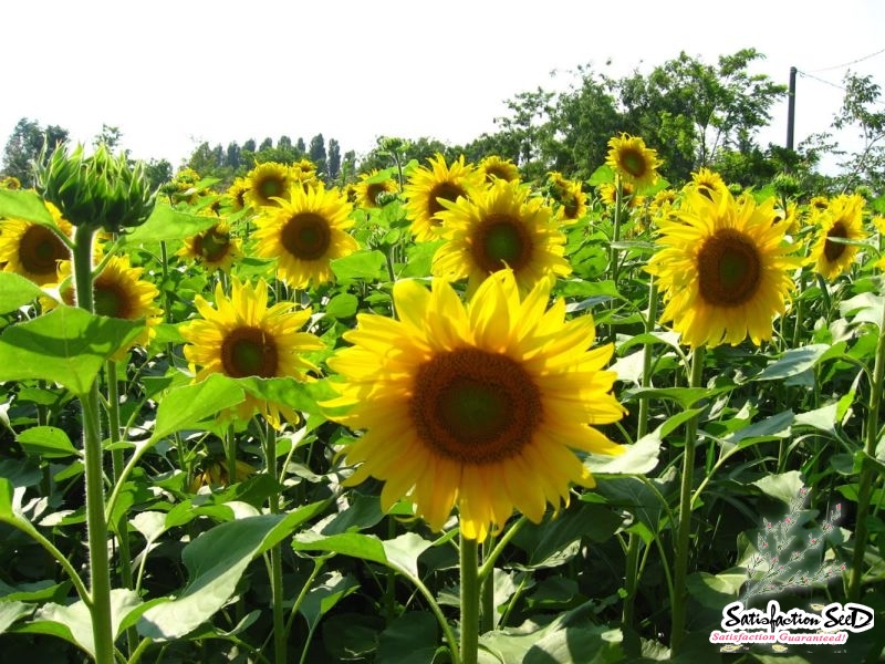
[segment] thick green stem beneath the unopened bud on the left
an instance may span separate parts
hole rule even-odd
[[[74,292],[77,307],[94,312],[92,291],[92,247],[95,230],[79,226],[74,231],[72,253]],[[83,411],[83,466],[86,485],[86,531],[90,552],[90,591],[95,662],[114,662],[114,636],[111,623],[111,563],[107,556],[107,520],[104,502],[102,425],[98,418],[98,382],[80,396]]]

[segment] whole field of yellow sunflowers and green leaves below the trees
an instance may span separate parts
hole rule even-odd
[[[666,167],[6,180],[0,660],[878,661],[885,201]]]

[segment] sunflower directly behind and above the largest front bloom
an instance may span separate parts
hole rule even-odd
[[[472,199],[447,201],[440,218],[448,241],[434,256],[434,277],[468,278],[472,292],[490,273],[510,268],[528,292],[542,279],[569,274],[565,236],[552,221],[551,208],[529,194],[518,181],[497,180]]]

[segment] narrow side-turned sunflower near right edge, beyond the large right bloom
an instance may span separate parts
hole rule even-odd
[[[810,258],[825,279],[833,280],[851,269],[860,247],[832,240],[864,239],[863,214],[863,196],[842,194],[832,198],[826,209],[816,216],[820,230]]]

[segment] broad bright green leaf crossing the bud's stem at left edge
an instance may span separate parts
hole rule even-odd
[[[42,378],[88,392],[104,362],[144,328],[142,321],[59,307],[0,335],[0,381]]]

